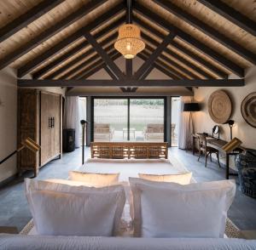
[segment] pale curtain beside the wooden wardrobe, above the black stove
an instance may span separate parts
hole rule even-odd
[[[75,147],[79,148],[79,96],[67,96],[64,108],[64,128],[75,130]]]

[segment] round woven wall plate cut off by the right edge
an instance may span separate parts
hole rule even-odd
[[[241,102],[241,115],[249,125],[256,128],[256,92],[248,94]]]

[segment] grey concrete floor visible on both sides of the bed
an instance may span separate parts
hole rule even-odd
[[[86,156],[90,150],[86,149]],[[204,167],[204,159],[197,162],[197,156],[189,151],[171,148],[169,158],[176,157],[184,166],[193,172],[196,181],[204,182],[224,179],[225,169],[218,168],[214,162],[208,162]],[[49,162],[40,169],[37,179],[67,179],[68,171],[78,168],[81,165],[81,150],[63,154],[61,159]],[[18,230],[32,219],[24,193],[24,178],[32,177],[32,173],[26,173],[23,177],[17,178],[0,189],[0,226],[15,226]],[[230,207],[229,218],[241,230],[256,230],[256,199],[241,194],[236,190],[236,198]]]

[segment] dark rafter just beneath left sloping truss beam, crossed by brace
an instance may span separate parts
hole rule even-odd
[[[118,26],[120,26],[123,22],[125,21],[125,19],[122,17],[119,20],[114,21],[111,25],[109,25],[108,27],[102,29],[102,31],[96,33],[95,37],[96,39],[99,39],[101,37],[103,37],[104,35],[106,35],[109,31],[113,31],[113,29],[116,29]],[[70,51],[68,51],[66,54],[61,55],[61,57],[57,58],[56,60],[52,61],[49,63],[49,65],[46,65],[44,68],[42,68],[39,71],[36,71],[32,77],[35,79],[38,79],[39,77],[44,76],[46,73],[48,73],[49,71],[51,71],[52,69],[54,69],[55,67],[57,67],[58,65],[61,65],[65,60],[71,58],[74,54],[79,53],[80,50],[86,48],[87,46],[89,46],[90,44],[87,41],[84,41],[83,43],[80,43],[77,47],[71,49]],[[40,62],[41,63],[41,62]],[[28,69],[28,71],[31,71],[32,68],[34,68],[35,66],[38,65],[33,65],[31,68]]]

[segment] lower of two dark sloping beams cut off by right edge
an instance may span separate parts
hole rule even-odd
[[[224,45],[226,48],[230,48],[231,51],[239,54],[245,60],[256,65],[256,54],[253,54],[252,51],[243,48],[240,44],[231,40],[229,37],[224,36],[224,34],[218,32],[212,26],[208,26],[203,21],[197,19],[192,14],[185,12],[183,9],[178,8],[175,4],[166,1],[166,0],[154,0],[154,3],[159,4],[162,8],[176,15],[178,18],[187,22],[190,26],[194,26],[199,31],[206,34],[208,37],[211,37],[218,43]]]

